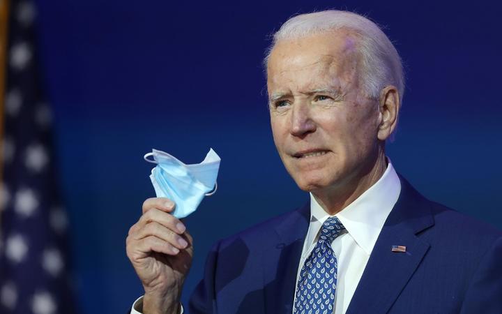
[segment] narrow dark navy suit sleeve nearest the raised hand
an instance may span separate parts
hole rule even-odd
[[[204,278],[195,287],[190,297],[190,314],[213,314],[216,312],[215,274],[220,243],[209,251],[204,269]]]

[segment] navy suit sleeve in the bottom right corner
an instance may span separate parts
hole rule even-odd
[[[502,313],[502,237],[482,258],[476,273],[473,275],[461,314]]]

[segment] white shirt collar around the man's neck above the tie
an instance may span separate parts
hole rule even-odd
[[[363,248],[367,255],[371,254],[383,223],[385,223],[388,214],[390,214],[397,202],[400,192],[400,179],[388,159],[387,169],[383,172],[382,177],[335,215],[356,241],[356,244]],[[310,193],[311,223],[318,220],[320,228],[329,216]]]

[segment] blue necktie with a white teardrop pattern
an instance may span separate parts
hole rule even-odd
[[[344,229],[345,227],[336,217],[330,217],[323,223],[319,240],[301,269],[293,313],[333,313],[337,259],[331,248],[331,242]]]

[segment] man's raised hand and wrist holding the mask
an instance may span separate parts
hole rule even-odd
[[[143,313],[178,313],[183,282],[193,256],[192,237],[170,214],[165,197],[144,201],[143,214],[130,227],[126,251],[145,290]]]

